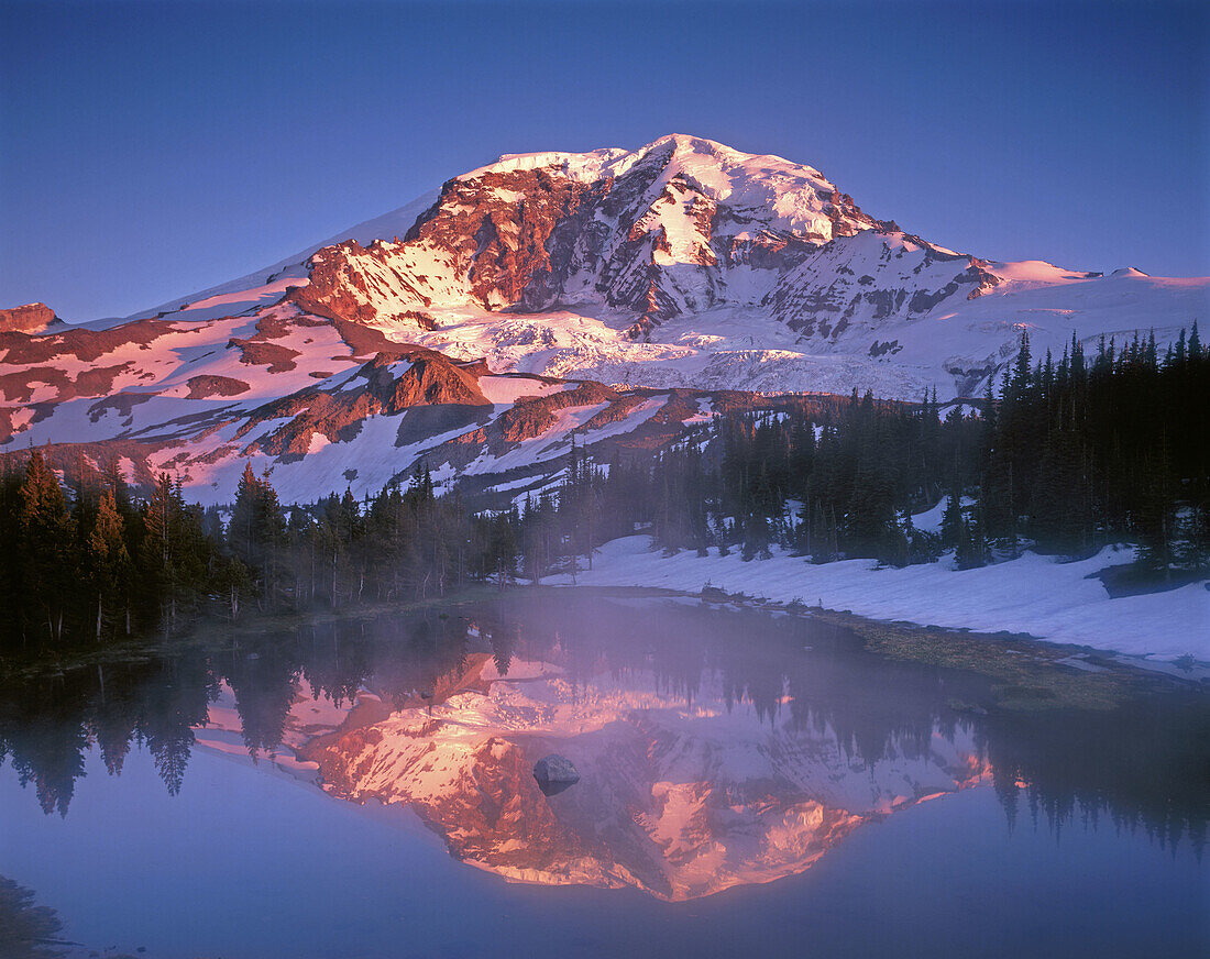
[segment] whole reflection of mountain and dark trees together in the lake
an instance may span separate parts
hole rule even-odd
[[[967,704],[987,681],[802,617],[571,593],[461,613],[215,636],[25,681],[2,689],[0,756],[62,815],[93,744],[110,773],[145,745],[173,793],[194,749],[250,756],[407,803],[511,879],[669,900],[801,872],[871,819],[980,784],[1010,824],[1105,815],[1204,844],[1198,693],[980,715]],[[581,781],[548,797],[532,766],[552,752]]]

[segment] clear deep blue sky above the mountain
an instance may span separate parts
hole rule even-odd
[[[1210,273],[1205,5],[0,0],[0,306],[67,319],[673,132],[962,252]]]

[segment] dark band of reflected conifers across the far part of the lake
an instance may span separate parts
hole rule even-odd
[[[307,625],[254,642],[215,634],[10,676],[0,683],[0,761],[47,814],[67,815],[93,746],[113,775],[132,745],[145,747],[175,793],[195,730],[225,689],[243,747],[259,757],[282,746],[300,697],[347,709],[369,691],[380,717],[432,712],[489,657],[499,674],[557,664],[580,689],[609,677],[686,706],[708,692],[770,727],[830,730],[847,761],[870,768],[927,756],[938,735],[969,736],[1010,824],[1027,815],[1058,832],[1105,818],[1162,844],[1187,840],[1200,853],[1205,843],[1210,722],[1200,692],[1170,688],[1110,710],[1003,710],[984,677],[869,654],[849,631],[809,618],[571,593]]]

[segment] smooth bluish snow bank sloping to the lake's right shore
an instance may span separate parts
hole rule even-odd
[[[904,619],[980,632],[1028,632],[1051,642],[1091,646],[1131,655],[1210,660],[1210,590],[1192,583],[1166,593],[1111,599],[1089,574],[1130,562],[1133,550],[1106,548],[1079,562],[1026,553],[1018,560],[955,571],[947,561],[877,568],[874,560],[812,565],[776,553],[744,562],[737,553],[709,556],[691,550],[663,556],[650,536],[629,536],[600,548],[580,585],[662,587],[698,591],[709,582],[730,593],[876,619]],[[570,585],[569,576],[543,583]]]

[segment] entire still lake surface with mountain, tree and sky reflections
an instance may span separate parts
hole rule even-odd
[[[1202,693],[1004,711],[809,618],[570,591],[33,687],[0,874],[80,955],[1210,944]],[[547,797],[549,752],[581,781]]]

